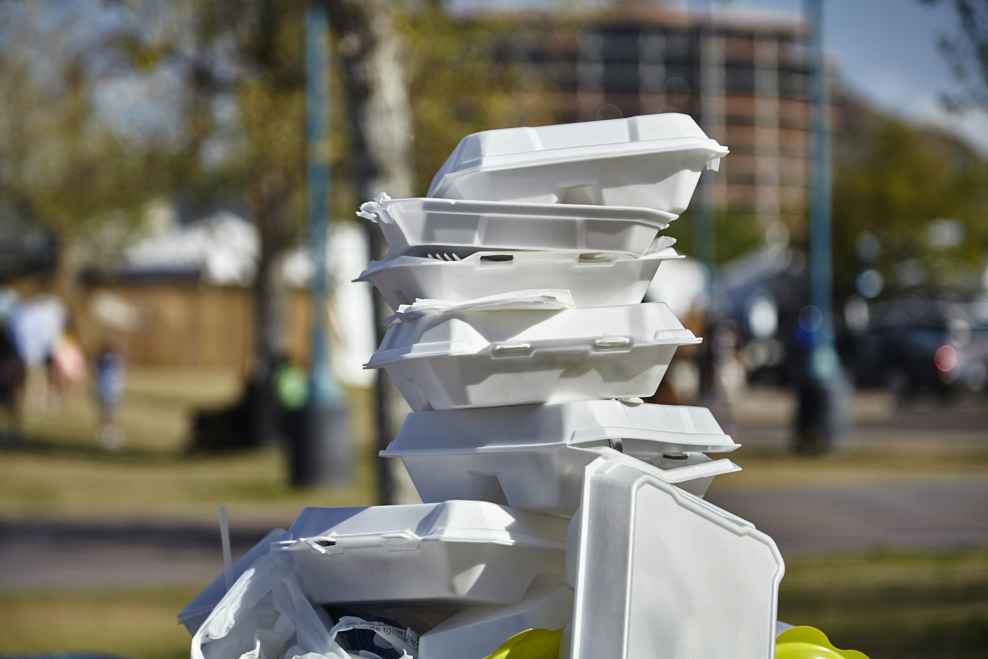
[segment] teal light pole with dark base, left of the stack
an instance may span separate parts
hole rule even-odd
[[[350,474],[350,435],[343,391],[333,376],[326,341],[329,213],[329,19],[313,3],[305,11],[305,128],[308,144],[311,371],[309,395],[292,438],[291,482],[328,485]]]

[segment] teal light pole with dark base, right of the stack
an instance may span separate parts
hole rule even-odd
[[[799,385],[796,449],[822,452],[846,434],[848,384],[834,346],[831,250],[830,89],[823,48],[823,0],[804,0],[809,30],[810,306],[800,314],[808,332],[808,364]]]

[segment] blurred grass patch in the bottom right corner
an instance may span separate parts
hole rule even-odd
[[[988,550],[804,559],[786,566],[779,618],[871,659],[988,656]]]

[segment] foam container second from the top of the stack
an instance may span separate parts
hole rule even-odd
[[[676,215],[650,208],[397,199],[358,213],[380,226],[393,258],[410,253],[542,250],[641,256]],[[526,287],[531,288],[531,287]]]

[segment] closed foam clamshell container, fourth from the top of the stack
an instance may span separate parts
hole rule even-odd
[[[438,313],[389,327],[365,368],[387,371],[413,410],[632,398],[696,343],[662,302]]]

